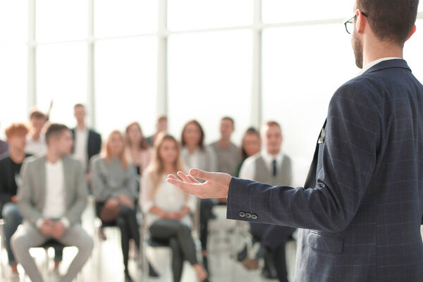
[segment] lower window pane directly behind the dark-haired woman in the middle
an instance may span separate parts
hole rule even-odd
[[[250,125],[250,31],[175,35],[169,40],[168,116],[171,133],[197,119],[207,142],[219,138],[220,118],[232,116],[240,142]],[[183,67],[183,71],[181,68]]]

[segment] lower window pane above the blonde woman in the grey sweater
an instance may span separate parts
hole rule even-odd
[[[156,41],[154,37],[101,40],[95,57],[97,129],[106,135],[140,122],[154,131],[156,117]]]

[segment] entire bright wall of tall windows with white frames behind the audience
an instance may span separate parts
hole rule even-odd
[[[47,111],[51,100],[51,121],[75,125],[73,104],[81,102],[103,135],[131,121],[150,135],[168,114],[173,135],[195,118],[209,143],[221,117],[232,116],[240,144],[247,127],[274,119],[300,185],[329,99],[359,71],[342,24],[353,4],[0,1],[0,137],[8,123],[27,120],[30,106]],[[422,11],[404,51],[420,80]]]

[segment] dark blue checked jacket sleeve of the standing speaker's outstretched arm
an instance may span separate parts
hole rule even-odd
[[[379,115],[361,89],[348,82],[331,99],[314,188],[272,187],[232,178],[228,219],[317,231],[345,230],[372,181],[379,144]]]

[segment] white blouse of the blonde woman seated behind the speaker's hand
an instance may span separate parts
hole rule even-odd
[[[152,195],[152,185],[149,173],[145,173],[142,178],[140,205],[142,212],[145,214],[147,226],[151,226],[154,222],[161,219],[157,214],[149,212],[154,206],[163,209],[165,212],[180,212],[186,206],[191,212],[195,212],[197,197],[188,195],[171,183],[166,182],[166,176],[162,176],[154,195]],[[186,214],[180,221],[187,226],[192,226],[190,214]]]

